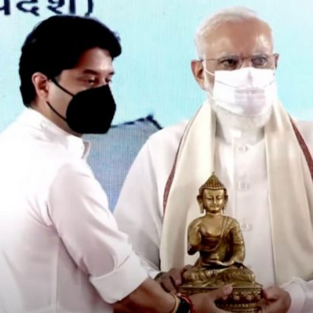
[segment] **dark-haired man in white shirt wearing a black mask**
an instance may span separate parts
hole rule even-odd
[[[148,278],[85,159],[84,133],[115,113],[119,39],[94,19],[54,16],[23,45],[27,109],[0,135],[0,308],[9,313],[218,312],[230,287],[179,298]]]

